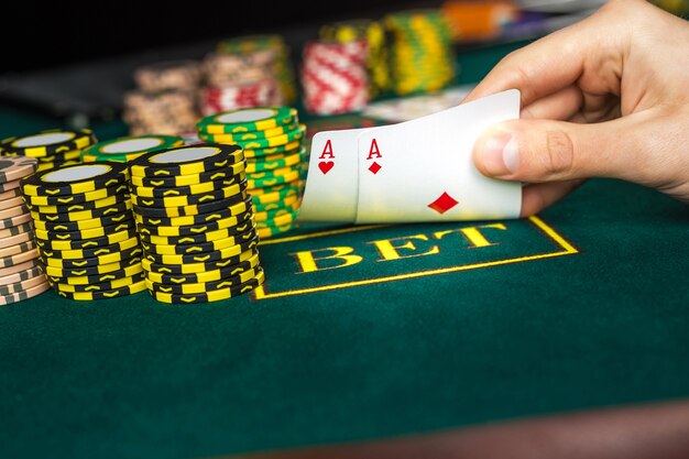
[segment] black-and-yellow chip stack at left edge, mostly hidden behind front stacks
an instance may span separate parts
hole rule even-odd
[[[39,160],[39,172],[79,164],[84,149],[97,142],[89,129],[48,130],[14,136],[0,142],[2,156],[31,156]]]

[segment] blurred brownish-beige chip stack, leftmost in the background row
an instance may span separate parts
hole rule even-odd
[[[198,119],[196,94],[200,68],[194,61],[142,66],[134,73],[138,89],[124,95],[122,118],[131,135],[182,134]]]

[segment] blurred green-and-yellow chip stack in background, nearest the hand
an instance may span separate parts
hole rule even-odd
[[[389,14],[393,90],[405,96],[429,92],[451,84],[456,75],[450,29],[440,10]]]

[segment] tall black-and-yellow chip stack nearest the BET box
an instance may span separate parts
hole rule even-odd
[[[145,273],[174,274],[187,265],[219,270],[245,261],[239,260],[244,252],[258,253],[244,168],[241,145],[217,143],[150,153],[130,164]],[[249,282],[258,274],[244,277]],[[229,285],[236,275],[228,272],[216,282]],[[147,274],[144,278],[157,298],[157,284]]]

